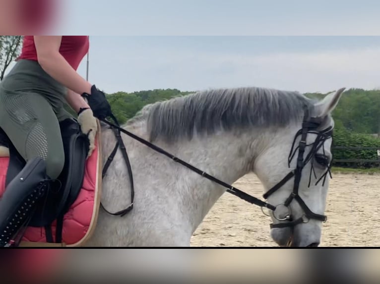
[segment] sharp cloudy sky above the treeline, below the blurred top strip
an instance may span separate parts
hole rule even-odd
[[[380,88],[380,37],[90,36],[89,81],[106,93],[265,87]],[[79,74],[86,75],[86,58]]]

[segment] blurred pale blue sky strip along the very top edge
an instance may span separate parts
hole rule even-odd
[[[61,0],[71,35],[379,35],[378,0]]]

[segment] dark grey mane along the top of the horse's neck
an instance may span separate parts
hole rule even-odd
[[[146,105],[129,123],[146,120],[150,141],[191,139],[194,132],[282,127],[303,117],[312,100],[298,92],[264,88],[217,89]]]

